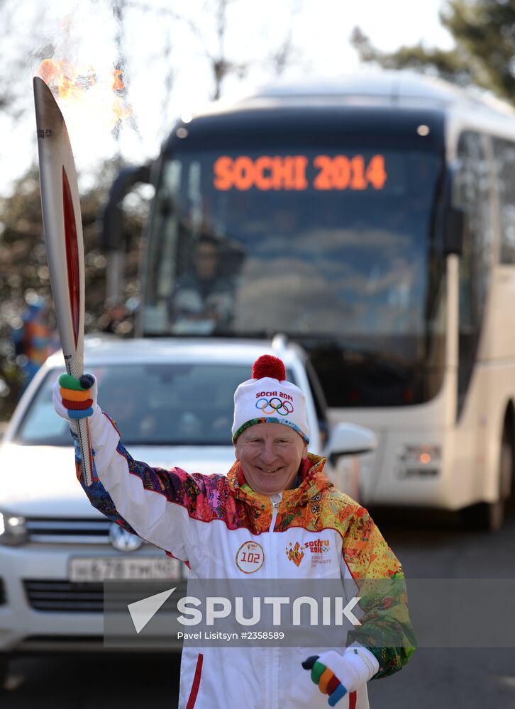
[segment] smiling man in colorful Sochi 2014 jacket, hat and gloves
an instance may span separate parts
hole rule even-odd
[[[76,446],[89,500],[118,525],[186,562],[190,578],[284,578],[292,564],[277,548],[320,537],[328,540],[335,578],[351,576],[359,583],[402,577],[399,561],[367,511],[336,490],[323,474],[325,459],[308,452],[304,393],[286,380],[277,357],[257,359],[252,378],[236,389],[236,462],[227,475],[191,475],[135,461],[115,423],[96,403],[94,378],[89,375],[82,384],[62,375],[53,396],[55,410],[70,421],[72,432],[77,418],[89,418],[96,473],[91,486],[84,483]],[[267,393],[278,393],[289,406],[256,408]],[[70,408],[77,398],[82,400],[79,408]],[[247,543],[259,550],[250,565],[240,553]],[[327,568],[298,567],[306,579],[317,574],[327,579]],[[342,647],[309,657],[297,647],[274,648],[274,654],[253,647],[205,647],[202,652],[184,647],[179,708],[236,709],[243,700],[248,709],[314,709],[326,705],[327,695],[330,706],[366,709],[367,682],[401,669],[414,650],[405,599],[387,601],[367,610],[362,625],[366,637],[377,628],[391,628],[398,647],[367,648],[350,637],[355,633],[349,633],[346,644],[343,639]]]

